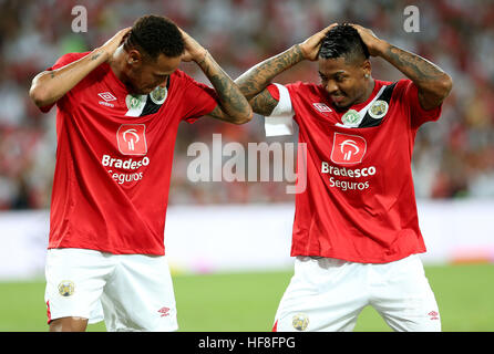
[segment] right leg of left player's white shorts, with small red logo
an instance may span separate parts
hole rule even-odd
[[[172,277],[164,256],[120,254],[102,296],[109,331],[178,329]]]

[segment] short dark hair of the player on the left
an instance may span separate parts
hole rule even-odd
[[[185,42],[177,25],[162,15],[144,15],[138,18],[124,44],[125,50],[143,50],[153,60],[163,53],[176,58],[184,53]]]

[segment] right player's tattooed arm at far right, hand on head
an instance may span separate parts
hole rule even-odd
[[[420,55],[399,49],[361,25],[353,24],[373,56],[381,56],[400,70],[419,87],[419,102],[422,108],[439,106],[450,94],[453,80],[438,65]]]

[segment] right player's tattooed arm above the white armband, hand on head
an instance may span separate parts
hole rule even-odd
[[[249,100],[255,113],[261,115],[270,115],[278,104],[278,101],[271,97],[266,86],[278,74],[290,69],[302,60],[317,60],[321,40],[337,23],[333,23],[322,31],[313,34],[303,43],[296,44],[285,52],[271,56],[264,62],[250,67],[241,74],[235,82],[239,86],[241,93]]]

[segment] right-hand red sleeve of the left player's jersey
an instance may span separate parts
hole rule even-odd
[[[185,75],[184,87],[184,121],[194,123],[199,117],[207,115],[218,105],[218,95],[216,91],[208,85],[199,83],[194,79]]]

